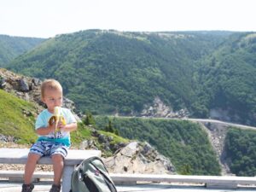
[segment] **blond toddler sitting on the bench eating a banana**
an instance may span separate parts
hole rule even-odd
[[[71,144],[69,132],[77,129],[77,121],[73,113],[67,108],[60,108],[62,105],[62,87],[58,81],[47,79],[43,82],[41,85],[41,99],[47,108],[39,113],[36,121],[35,129],[38,134],[38,141],[30,148],[21,192],[31,192],[34,188],[31,183],[32,174],[38,160],[45,155],[51,157],[54,170],[54,183],[49,192],[59,192],[61,190],[64,158],[67,156],[67,148]],[[65,119],[64,122],[62,120],[58,123],[49,122],[55,112],[55,107],[59,107],[58,110]]]

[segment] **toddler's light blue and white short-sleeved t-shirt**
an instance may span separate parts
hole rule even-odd
[[[67,125],[76,123],[77,120],[74,118],[73,113],[68,108],[60,108],[61,116],[64,117]],[[53,113],[49,113],[48,109],[44,109],[41,113],[38,114],[38,118],[36,121],[35,128],[36,130],[38,128],[47,127],[49,125],[49,119]],[[55,143],[63,143],[67,147],[71,145],[70,142],[70,134],[69,131],[52,131],[49,132],[48,135],[40,136],[38,135],[38,141],[49,141],[49,142],[55,142]]]

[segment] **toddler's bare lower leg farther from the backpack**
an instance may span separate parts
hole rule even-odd
[[[40,157],[41,156],[39,154],[28,154],[24,174],[25,184],[30,184],[32,182],[32,175]]]

